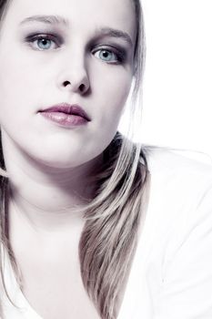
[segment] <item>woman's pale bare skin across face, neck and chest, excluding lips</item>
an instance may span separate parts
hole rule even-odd
[[[25,21],[35,15],[57,15],[66,24]],[[124,32],[127,40],[104,35],[102,27]],[[46,47],[26,43],[33,32],[62,40],[54,38]],[[87,177],[116,134],[132,83],[135,41],[130,0],[101,0],[101,5],[99,0],[15,0],[5,16],[0,124],[13,197],[10,238],[25,297],[44,319],[99,318],[80,278],[77,249],[84,221],[71,207],[92,196]],[[112,47],[125,52],[124,62]],[[108,60],[101,49],[109,50]],[[40,117],[40,108],[60,102],[79,104],[91,121],[64,129]]]

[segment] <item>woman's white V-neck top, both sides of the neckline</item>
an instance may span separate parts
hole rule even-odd
[[[166,149],[148,149],[146,157],[151,173],[146,221],[117,319],[211,319],[212,165]],[[20,307],[3,293],[5,319],[42,319],[6,258],[5,280]]]

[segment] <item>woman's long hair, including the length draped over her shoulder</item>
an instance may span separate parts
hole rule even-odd
[[[132,2],[136,15],[136,46],[131,107],[135,114],[136,108],[141,108],[146,43],[140,1]],[[2,20],[8,3],[8,0],[0,0]],[[148,176],[146,156],[141,144],[134,143],[129,136],[126,138],[117,131],[103,152],[102,166],[93,176],[95,196],[84,207],[79,208],[85,219],[78,245],[81,277],[86,292],[102,319],[116,319],[118,314],[121,294],[145,217]],[[0,238],[15,270],[17,282],[21,285],[21,275],[8,235],[8,197],[9,175],[5,169],[0,139]],[[3,287],[13,303],[6,292],[2,261],[3,256],[0,255]],[[3,314],[0,315],[3,317]]]

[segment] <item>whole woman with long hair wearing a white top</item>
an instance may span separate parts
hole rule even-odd
[[[2,318],[209,318],[211,168],[117,131],[139,1],[1,1],[0,35]]]

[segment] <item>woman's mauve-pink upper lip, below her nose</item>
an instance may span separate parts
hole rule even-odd
[[[78,115],[82,118],[86,118],[87,121],[91,120],[86,114],[86,111],[77,104],[69,104],[63,102],[53,105],[52,107],[42,109],[40,110],[40,112],[63,112],[66,114]]]

